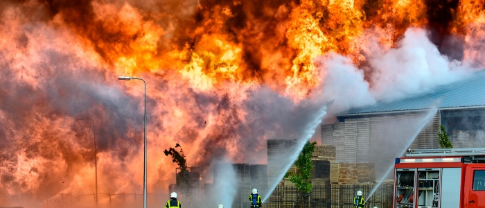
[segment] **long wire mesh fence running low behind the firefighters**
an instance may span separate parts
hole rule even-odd
[[[249,208],[250,202],[247,199],[252,186],[240,186],[237,196],[233,200],[231,208]],[[361,190],[363,197],[367,198],[373,189],[373,184],[326,184],[314,185],[308,201],[311,208],[352,208],[352,200],[358,190]],[[382,184],[367,200],[366,207],[391,207],[393,184]],[[265,189],[258,189],[262,196]],[[207,191],[208,192],[208,191]],[[206,193],[212,194],[212,193]],[[0,207],[142,207],[143,193],[133,191],[132,193],[98,193],[96,194],[73,194],[57,193],[46,196],[42,193],[25,193],[19,195],[8,195],[0,192]],[[164,207],[168,195],[166,193],[147,193],[148,207]],[[208,207],[211,203],[206,202],[204,189],[191,191],[190,195],[179,193],[179,200],[183,207]],[[213,207],[213,206],[212,206]],[[226,206],[224,206],[226,207]],[[229,208],[229,206],[227,206]],[[271,196],[265,199],[263,208],[303,208],[301,193],[294,186],[277,186]]]

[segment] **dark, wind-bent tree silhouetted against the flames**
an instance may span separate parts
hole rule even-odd
[[[180,153],[175,149],[179,147]],[[175,148],[169,148],[168,150],[164,150],[166,156],[172,156],[172,162],[179,165],[180,172],[177,173],[176,183],[177,186],[181,191],[188,192],[190,183],[188,178],[188,168],[187,162],[184,155],[184,150],[182,150],[182,146],[179,144],[175,144]]]

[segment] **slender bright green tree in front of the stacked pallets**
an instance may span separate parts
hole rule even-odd
[[[309,207],[310,191],[312,191],[313,185],[310,181],[311,171],[313,169],[313,163],[310,157],[312,156],[313,150],[315,150],[315,145],[317,142],[307,141],[303,150],[298,155],[298,159],[294,162],[294,166],[297,166],[297,173],[286,173],[285,178],[289,178],[291,182],[297,187],[298,191],[301,192],[301,197],[303,198],[303,207]]]

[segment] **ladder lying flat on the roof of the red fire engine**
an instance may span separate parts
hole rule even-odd
[[[411,149],[406,157],[463,157],[462,162],[485,162],[485,148]]]

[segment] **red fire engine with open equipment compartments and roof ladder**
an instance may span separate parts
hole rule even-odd
[[[394,208],[485,208],[485,148],[409,149],[394,165]]]

